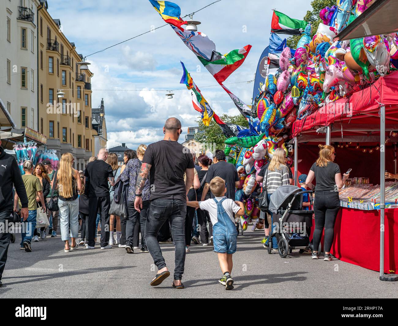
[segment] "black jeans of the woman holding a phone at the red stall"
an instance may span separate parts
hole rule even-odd
[[[334,238],[334,223],[340,209],[337,191],[316,191],[314,200],[315,230],[312,235],[314,250],[318,250],[322,231],[325,228],[325,252],[330,252]]]

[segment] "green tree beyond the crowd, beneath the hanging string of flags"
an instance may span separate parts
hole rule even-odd
[[[246,128],[249,127],[248,121],[241,114],[233,116],[223,114],[220,116],[220,119],[225,123],[233,123]],[[210,125],[208,127],[203,124],[202,119],[198,119],[196,122],[199,126],[199,131],[201,131],[201,133],[197,133],[195,135],[196,141],[205,144],[206,149],[211,147],[211,150],[223,150],[225,148],[224,141],[226,140],[226,137],[222,133],[220,126],[217,125],[213,119],[210,121]],[[213,144],[215,144],[215,148],[213,147]]]

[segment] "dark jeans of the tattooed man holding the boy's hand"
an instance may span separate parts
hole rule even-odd
[[[166,267],[157,236],[169,219],[175,246],[174,279],[181,279],[185,264],[185,215],[187,203],[180,199],[154,199],[150,202],[145,226],[145,242],[158,269]],[[190,224],[192,225],[192,223]]]

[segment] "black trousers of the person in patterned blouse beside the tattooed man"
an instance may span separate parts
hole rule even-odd
[[[139,213],[135,208],[134,208],[134,201],[128,201],[127,202],[127,220],[126,220],[126,244],[130,245],[131,247],[135,246],[138,247],[139,243],[139,234],[137,234],[137,238],[134,238],[134,231],[135,231],[135,226],[137,224],[140,224],[141,221],[141,215],[143,216],[143,219],[146,221],[146,214],[149,208],[149,200],[144,200],[142,201],[142,209],[141,213]],[[137,230],[139,232],[139,230]],[[144,222],[144,228],[142,229],[141,226],[141,246],[145,246],[144,242],[144,234],[145,234],[145,222]]]

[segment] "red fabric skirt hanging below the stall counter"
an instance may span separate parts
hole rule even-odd
[[[312,231],[314,227],[315,223]],[[380,211],[342,207],[336,218],[330,252],[343,262],[380,271]],[[385,209],[384,273],[398,273],[397,265],[398,209]]]

